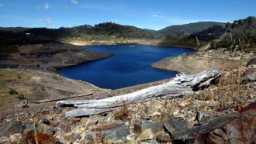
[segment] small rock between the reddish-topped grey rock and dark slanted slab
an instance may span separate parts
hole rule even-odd
[[[141,124],[141,130],[151,129],[152,132],[156,133],[161,131],[163,128],[161,121],[144,120]]]

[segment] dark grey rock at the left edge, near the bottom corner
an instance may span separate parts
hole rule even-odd
[[[25,126],[21,122],[8,122],[0,128],[0,136],[23,133]]]

